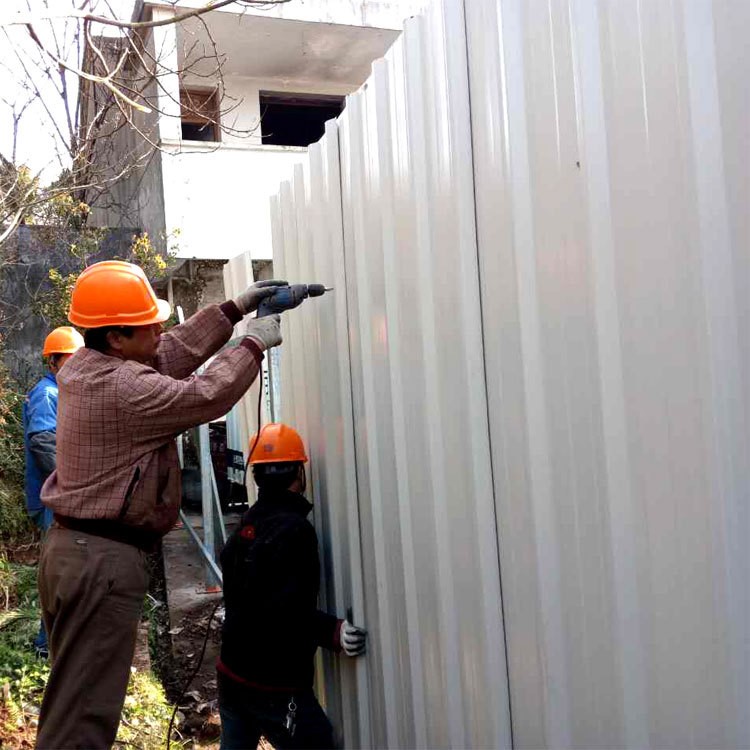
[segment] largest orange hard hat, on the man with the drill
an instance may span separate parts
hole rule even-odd
[[[169,302],[157,299],[140,266],[104,260],[76,280],[68,320],[81,328],[147,326],[163,323],[171,313]]]

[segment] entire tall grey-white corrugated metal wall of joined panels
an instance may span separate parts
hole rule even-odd
[[[348,745],[750,745],[749,34],[444,0],[274,199]]]

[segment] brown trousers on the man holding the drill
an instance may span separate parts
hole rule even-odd
[[[53,526],[39,563],[52,671],[37,748],[112,747],[143,599],[146,554],[129,544]]]

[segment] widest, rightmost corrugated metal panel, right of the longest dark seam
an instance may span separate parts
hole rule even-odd
[[[516,742],[746,747],[747,6],[466,11]]]

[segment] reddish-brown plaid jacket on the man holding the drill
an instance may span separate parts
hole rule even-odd
[[[57,470],[42,500],[56,515],[109,519],[164,534],[182,498],[175,437],[226,414],[263,355],[252,339],[226,349],[240,318],[212,305],[162,335],[153,367],[80,349],[60,370]]]

